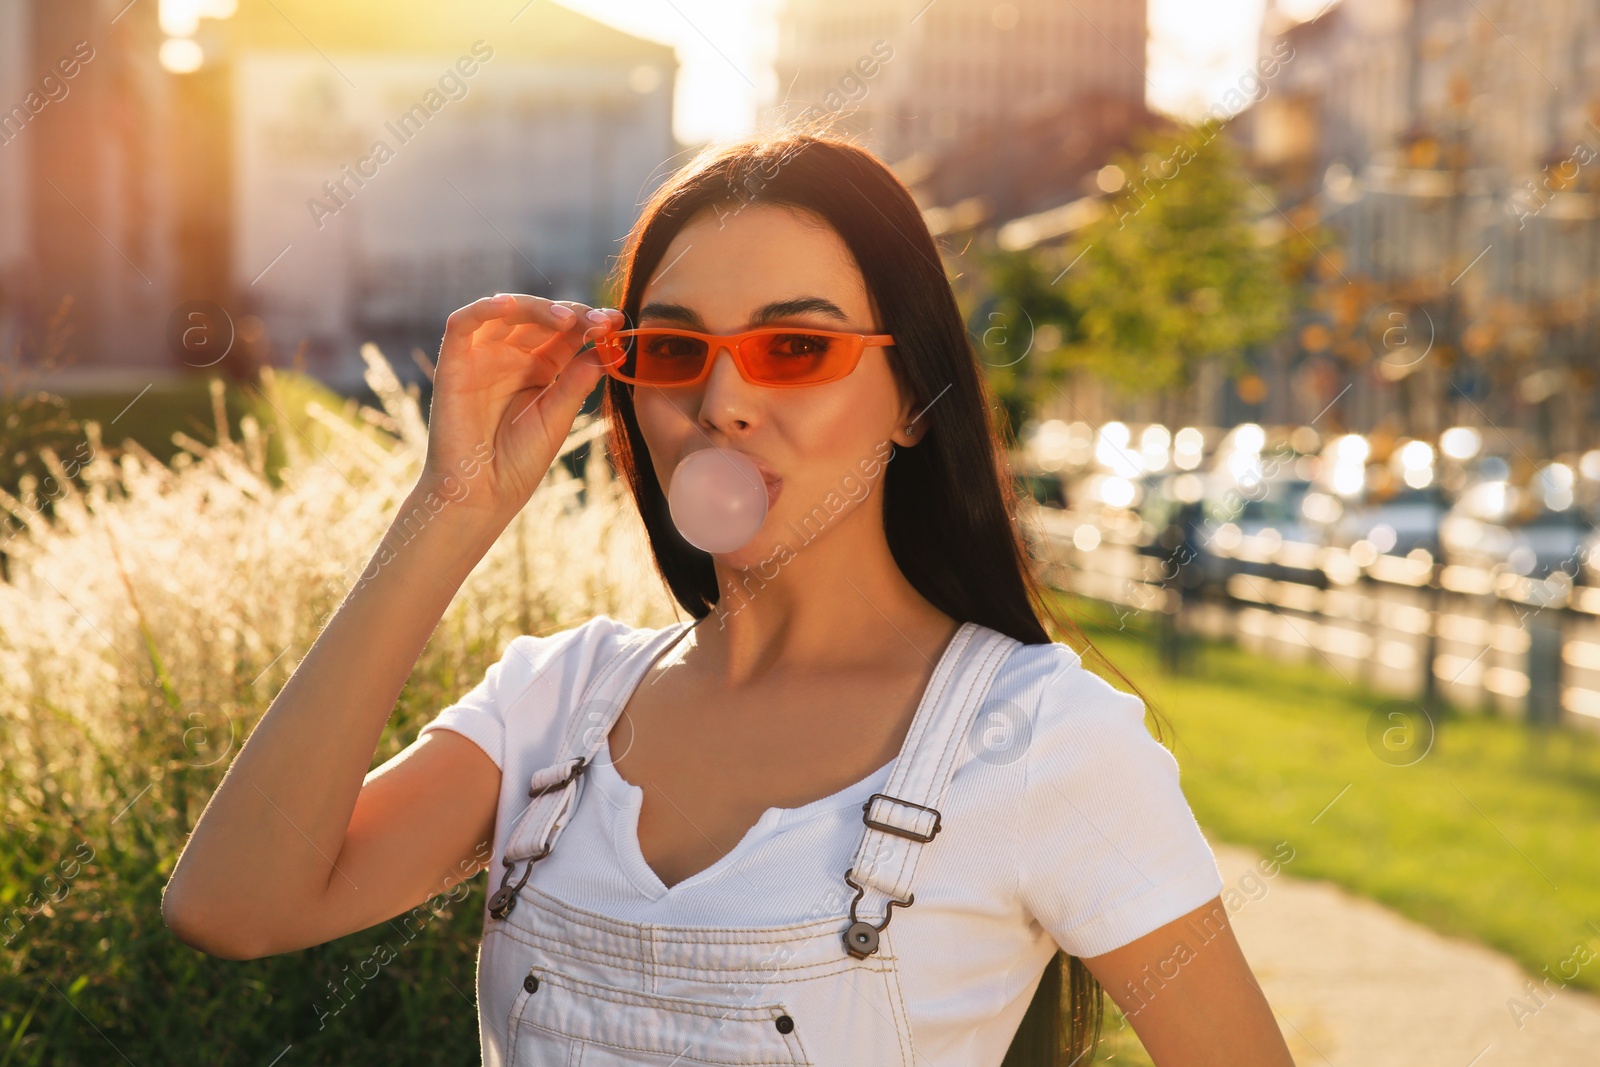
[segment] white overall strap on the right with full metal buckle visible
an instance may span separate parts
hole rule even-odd
[[[890,781],[861,806],[867,829],[845,872],[845,881],[856,889],[845,949],[858,960],[878,950],[878,931],[888,926],[891,910],[910,907],[917,861],[941,829],[939,806],[957,763],[970,755],[978,710],[1000,665],[1021,646],[1014,637],[963,622],[934,667]],[[861,917],[880,909],[880,923]]]

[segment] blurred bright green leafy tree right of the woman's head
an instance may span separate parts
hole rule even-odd
[[[1251,347],[1286,330],[1304,235],[1218,133],[1144,133],[1112,160],[1123,182],[1106,211],[1072,240],[992,253],[995,310],[1035,336],[1059,331],[1053,352],[990,370],[1002,398],[1032,405],[1074,366],[1125,394],[1178,398],[1206,358],[1235,376]]]

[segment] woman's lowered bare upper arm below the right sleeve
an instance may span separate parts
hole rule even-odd
[[[1083,963],[1157,1067],[1294,1067],[1221,897]]]

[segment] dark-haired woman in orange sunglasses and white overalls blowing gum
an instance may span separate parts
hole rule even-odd
[[[1101,984],[1163,1067],[1290,1064],[1142,701],[1040,622],[904,186],[826,136],[707,150],[619,275],[619,310],[502,294],[450,317],[402,515],[451,504],[386,539],[256,726],[168,886],[178,936],[322,944],[488,856],[485,1064],[1067,1064]],[[518,637],[366,774],[603,374],[610,454],[690,619]],[[717,555],[664,493],[710,446],[757,464],[770,509]]]

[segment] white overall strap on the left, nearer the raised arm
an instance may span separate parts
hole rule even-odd
[[[499,889],[490,896],[491,917],[506,918],[510,915],[517,905],[517,893],[533,873],[533,864],[550,854],[555,840],[578,809],[582,771],[605,745],[627,697],[632,696],[661,653],[675,645],[696,622],[698,619],[688,619],[659,630],[630,633],[605,667],[595,672],[589,685],[584,686],[578,705],[566,717],[555,763],[539,768],[528,781],[530,803],[517,816],[506,837],[501,856],[506,875],[501,878]],[[514,885],[512,873],[523,861],[526,861],[526,867]]]

